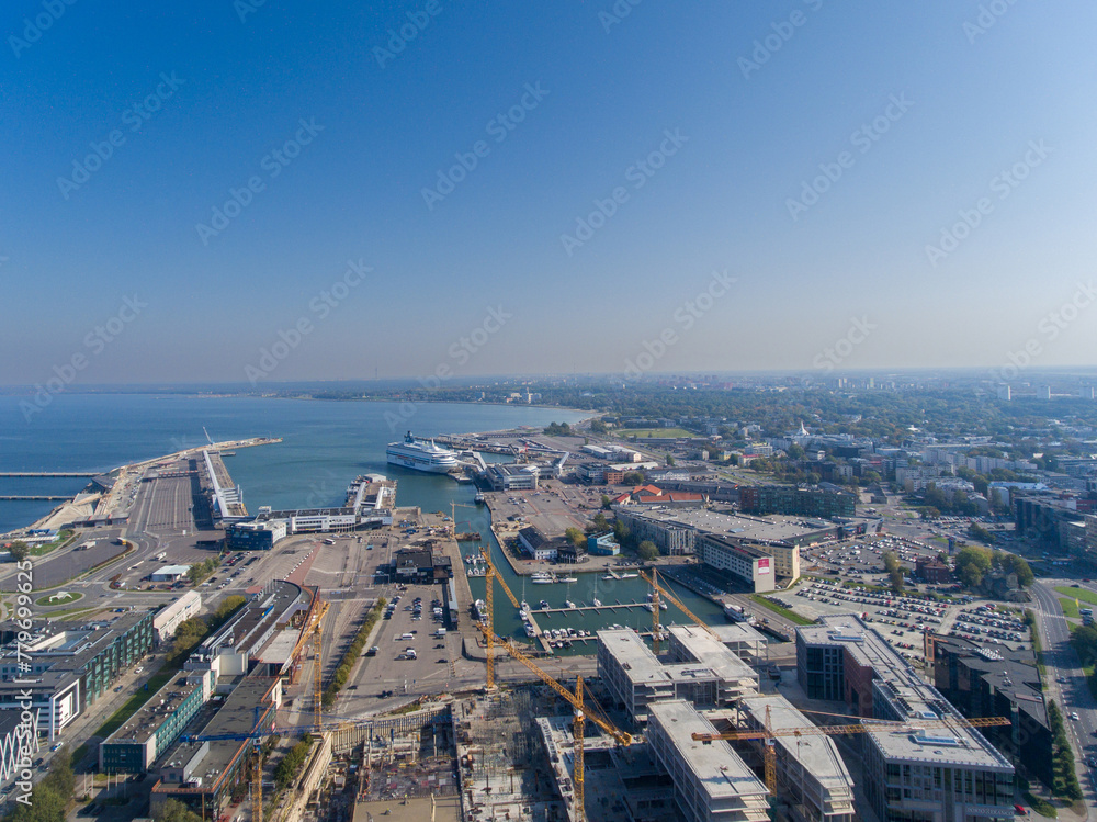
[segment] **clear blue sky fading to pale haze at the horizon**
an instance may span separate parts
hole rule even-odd
[[[4,5],[0,383],[1093,363],[1092,3],[255,1]]]

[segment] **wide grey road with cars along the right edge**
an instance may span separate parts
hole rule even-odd
[[[1032,586],[1040,605],[1040,626],[1043,637],[1043,662],[1048,669],[1047,692],[1063,709],[1063,720],[1067,736],[1075,746],[1078,764],[1078,780],[1086,793],[1087,806],[1097,796],[1094,768],[1086,764],[1090,756],[1097,756],[1097,702],[1089,692],[1089,686],[1082,673],[1082,663],[1070,644],[1071,629],[1059,604],[1056,585],[1074,584],[1072,581],[1041,581]],[[1071,720],[1071,712],[1077,711],[1077,721]]]

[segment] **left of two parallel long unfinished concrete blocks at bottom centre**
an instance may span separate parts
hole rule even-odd
[[[689,822],[766,822],[766,786],[726,742],[698,742],[694,733],[716,729],[689,702],[652,706],[647,744],[675,784],[682,817]]]

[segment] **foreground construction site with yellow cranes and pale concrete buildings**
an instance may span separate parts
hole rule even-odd
[[[326,604],[314,597],[295,632],[296,651],[316,652],[299,680],[313,686],[314,724],[281,737],[286,729],[244,718],[237,733],[184,745],[231,743],[234,756],[251,748],[258,822],[853,822],[945,803],[964,818],[1011,815],[1014,766],[977,730],[1009,720],[961,717],[855,615],[798,629],[795,669],[787,653],[778,669],[755,629],[705,624],[653,571],[644,575],[651,631],[599,630],[597,669],[565,676],[495,633],[494,587],[516,597],[485,560],[487,608],[473,628],[487,652],[483,686],[369,717],[325,716],[316,657]],[[692,623],[660,624],[663,599]],[[499,682],[505,658],[528,675]],[[256,688],[279,701],[278,689]],[[303,735],[312,744],[293,784],[264,797],[263,759]],[[935,768],[973,774],[981,789],[964,791],[950,776],[941,790]],[[173,796],[213,789],[192,785],[168,787]]]

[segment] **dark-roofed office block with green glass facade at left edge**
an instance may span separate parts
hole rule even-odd
[[[131,611],[79,628],[37,623],[30,640],[12,638],[0,649],[0,710],[22,708],[30,691],[38,729],[53,741],[149,652],[152,620],[150,610]],[[30,671],[20,650],[30,656]]]

